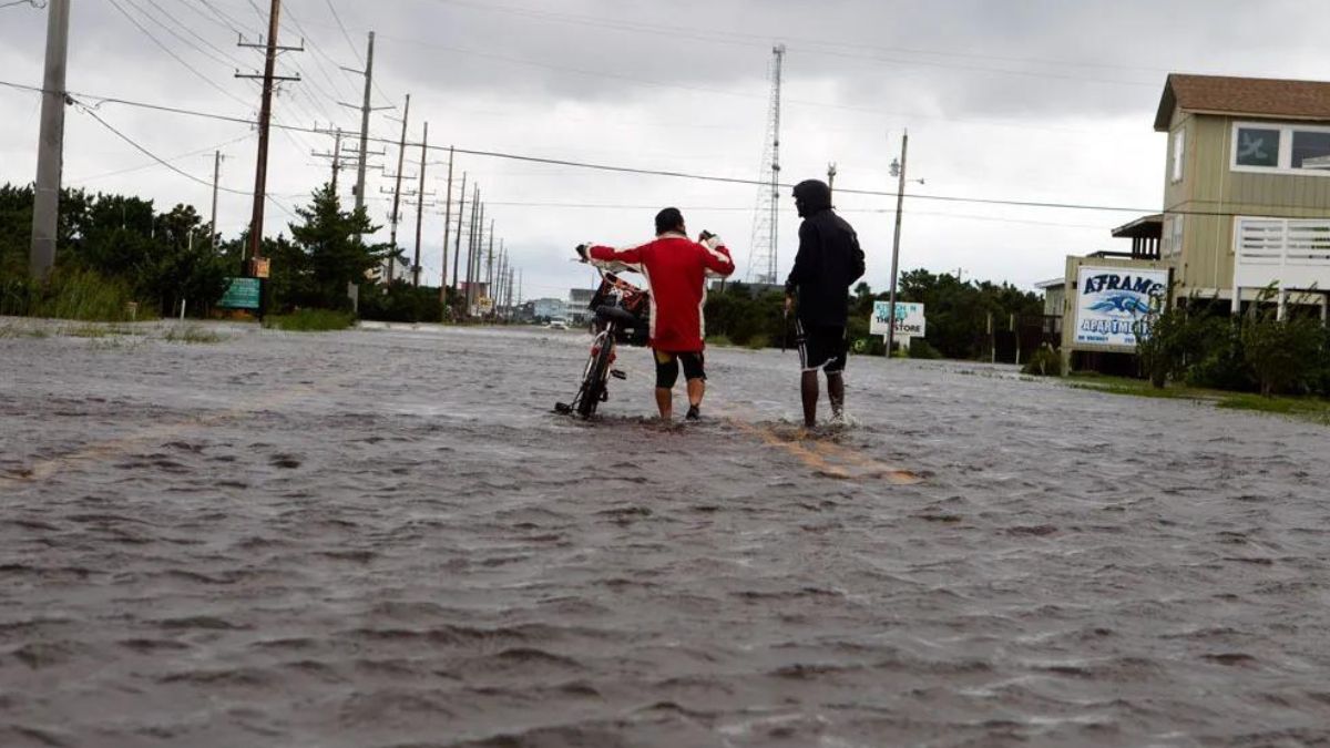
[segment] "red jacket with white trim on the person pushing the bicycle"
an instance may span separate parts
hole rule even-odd
[[[708,246],[713,245],[713,246]],[[717,240],[697,244],[673,232],[633,249],[592,246],[591,261],[610,270],[636,270],[652,291],[650,346],[664,353],[697,353],[706,347],[706,277],[734,272],[730,250]]]

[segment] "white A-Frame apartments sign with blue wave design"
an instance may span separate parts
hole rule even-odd
[[[1136,322],[1168,293],[1168,270],[1092,268],[1076,276],[1076,343],[1136,347]]]

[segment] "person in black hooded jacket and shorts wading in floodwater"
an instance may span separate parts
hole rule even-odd
[[[803,423],[813,427],[818,421],[819,369],[826,373],[831,413],[843,418],[849,358],[845,326],[850,285],[863,277],[863,250],[850,224],[831,209],[831,188],[826,182],[807,180],[795,185],[794,205],[803,224],[799,253],[785,281],[785,310],[789,313],[798,299]]]

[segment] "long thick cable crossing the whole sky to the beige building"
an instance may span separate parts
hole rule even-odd
[[[8,88],[23,89],[23,91],[39,92],[39,93],[43,92],[43,89],[40,87],[32,87],[32,85],[25,85],[25,84],[16,84],[16,83],[11,83],[11,81],[0,81],[0,85],[8,87]],[[206,118],[206,120],[217,120],[217,121],[226,121],[226,122],[243,124],[243,125],[255,125],[257,124],[254,120],[247,120],[247,118],[243,118],[243,117],[233,117],[233,116],[227,116],[227,114],[215,114],[215,113],[209,113],[209,112],[198,112],[198,110],[184,109],[184,108],[178,108],[178,106],[166,106],[166,105],[161,105],[161,104],[149,104],[149,102],[134,101],[134,100],[128,100],[128,98],[104,97],[104,96],[96,96],[96,94],[90,94],[90,93],[77,93],[77,92],[72,92],[72,93],[77,94],[77,96],[86,97],[86,98],[96,98],[96,100],[101,101],[102,104],[122,104],[125,106],[136,106],[136,108],[149,109],[149,110],[154,110],[154,112],[166,112],[166,113],[173,113],[173,114],[182,114],[182,116],[190,116],[190,117],[201,117],[201,118]],[[311,129],[311,128],[299,128],[299,126],[294,126],[294,125],[282,125],[282,124],[277,124],[277,122],[273,122],[273,126],[274,128],[279,128],[279,129],[293,130],[293,132],[310,133],[310,134],[321,134],[321,133],[318,133],[318,130]],[[368,140],[372,141],[372,142],[376,142],[376,144],[398,145],[396,141],[392,141],[390,138],[383,138],[383,137],[370,137]],[[419,146],[420,144],[419,142],[408,142],[407,145],[408,146]],[[443,152],[448,150],[448,146],[431,145],[431,146],[428,146],[428,150],[436,150],[436,152],[443,153]],[[544,165],[555,165],[555,166],[572,166],[572,168],[585,169],[585,170],[593,170],[593,172],[610,172],[610,173],[620,173],[620,174],[638,174],[638,176],[649,176],[649,177],[672,177],[672,178],[681,178],[681,180],[692,180],[692,181],[702,181],[702,182],[713,182],[713,184],[730,184],[730,185],[753,185],[753,186],[755,186],[755,185],[759,185],[759,184],[767,184],[767,185],[770,184],[769,181],[745,180],[745,178],[739,178],[739,177],[721,177],[721,176],[714,176],[714,174],[697,174],[697,173],[689,173],[689,172],[669,170],[669,169],[645,169],[645,168],[638,168],[638,166],[616,166],[616,165],[612,165],[612,164],[592,164],[592,162],[587,162],[587,161],[572,161],[572,160],[567,160],[567,158],[548,158],[548,157],[540,157],[540,156],[524,156],[524,154],[520,154],[520,153],[505,153],[505,152],[500,152],[500,150],[480,150],[480,149],[468,149],[468,148],[454,148],[454,150],[456,153],[460,153],[460,154],[464,154],[464,156],[476,156],[476,157],[481,157],[481,158],[503,158],[503,160],[508,160],[508,161],[520,161],[520,162],[528,162],[528,164],[544,164]],[[779,188],[785,188],[785,189],[793,188],[791,184],[783,184],[783,182],[779,184],[778,186]],[[896,197],[895,192],[888,192],[888,190],[851,189],[851,188],[842,188],[842,186],[837,186],[837,193],[839,193],[839,194],[861,194],[861,196],[867,196],[867,197],[891,197],[891,198]],[[962,197],[962,196],[922,194],[922,193],[910,193],[908,198],[912,200],[912,201],[955,202],[955,204],[967,204],[967,205],[999,205],[999,206],[1008,206],[1008,208],[1040,208],[1040,209],[1057,209],[1057,210],[1092,210],[1092,212],[1105,212],[1105,213],[1169,213],[1169,214],[1173,214],[1173,216],[1210,216],[1210,217],[1221,217],[1221,218],[1232,218],[1232,217],[1240,216],[1240,213],[1220,212],[1220,210],[1160,210],[1157,208],[1133,208],[1133,206],[1125,206],[1125,205],[1091,205],[1091,204],[1081,204],[1081,202],[1052,202],[1052,201],[1032,201],[1032,200],[1001,200],[1001,198]],[[1291,206],[1285,206],[1285,205],[1265,205],[1264,208],[1278,209],[1278,208],[1291,208]]]

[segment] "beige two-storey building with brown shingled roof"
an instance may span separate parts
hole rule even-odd
[[[1178,298],[1330,290],[1330,83],[1172,75],[1154,129]]]

